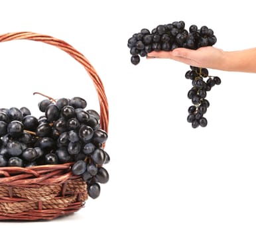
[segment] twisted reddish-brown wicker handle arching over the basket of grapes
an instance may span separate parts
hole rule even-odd
[[[83,54],[78,52],[74,47],[64,42],[63,40],[45,34],[38,34],[34,32],[11,32],[0,35],[0,42],[6,42],[10,40],[34,40],[50,44],[56,46],[57,48],[60,48],[61,50],[64,50],[64,52],[70,54],[70,56],[72,56],[75,60],[82,64],[82,66],[84,66],[90,78],[94,82],[94,86],[96,87],[100,106],[101,129],[106,132],[108,131],[109,113],[105,90],[99,76],[97,75],[96,70],[94,70],[94,67],[90,64],[90,62]]]

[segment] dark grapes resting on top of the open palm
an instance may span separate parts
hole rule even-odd
[[[185,29],[184,21],[176,21],[167,25],[159,25],[151,32],[142,29],[141,32],[133,34],[128,40],[130,48],[131,63],[139,64],[140,56],[147,56],[149,52],[160,50],[172,51],[175,48],[197,49],[203,46],[212,46],[217,38],[212,29],[202,26],[191,25],[189,31]]]

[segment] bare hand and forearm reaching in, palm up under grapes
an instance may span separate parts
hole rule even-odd
[[[256,48],[233,52],[225,52],[212,46],[198,50],[176,48],[172,52],[151,52],[147,54],[147,58],[169,58],[200,68],[256,73]]]

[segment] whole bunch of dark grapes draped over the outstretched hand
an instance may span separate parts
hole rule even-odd
[[[128,40],[127,46],[130,48],[131,63],[139,64],[140,57],[147,56],[153,51],[172,51],[175,48],[189,48],[196,50],[204,46],[212,46],[217,38],[212,29],[202,26],[200,29],[196,25],[191,25],[189,30],[185,29],[184,21],[176,21],[167,25],[159,25],[155,29],[142,29],[133,34]],[[192,89],[188,92],[188,98],[192,99],[193,105],[188,109],[187,121],[192,123],[192,127],[199,125],[206,127],[208,124],[204,116],[210,103],[206,97],[206,91],[210,91],[213,86],[219,85],[219,77],[208,75],[206,68],[190,67],[186,72],[186,78],[192,80]],[[204,82],[204,78],[208,78]]]

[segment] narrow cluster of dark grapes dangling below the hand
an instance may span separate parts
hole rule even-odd
[[[188,91],[188,98],[191,99],[193,105],[188,108],[188,123],[192,123],[192,127],[196,128],[207,126],[207,119],[204,114],[210,103],[206,99],[207,91],[210,91],[215,85],[220,85],[221,80],[218,76],[209,76],[206,68],[197,68],[190,66],[191,70],[186,72],[186,79],[192,80],[192,89]],[[204,78],[207,78],[206,82]]]

